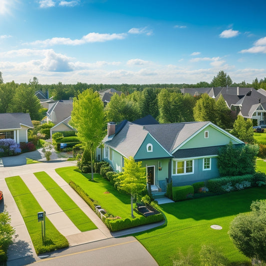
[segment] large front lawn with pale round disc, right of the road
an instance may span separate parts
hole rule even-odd
[[[249,265],[250,260],[233,245],[228,231],[239,213],[250,211],[252,201],[266,199],[266,187],[251,188],[219,196],[160,205],[167,226],[136,234],[136,238],[151,253],[160,266],[172,265],[179,249],[184,255],[192,248],[196,264],[202,245],[221,248],[232,265]],[[220,225],[222,230],[211,229]]]

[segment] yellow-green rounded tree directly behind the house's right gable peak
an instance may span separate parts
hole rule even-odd
[[[215,99],[207,93],[202,94],[193,108],[195,121],[211,121],[216,123],[216,104]]]

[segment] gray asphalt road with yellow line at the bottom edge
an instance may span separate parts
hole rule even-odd
[[[52,253],[33,266],[157,266],[134,237],[111,238]]]

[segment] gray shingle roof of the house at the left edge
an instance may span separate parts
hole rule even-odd
[[[20,129],[21,124],[33,128],[29,114],[24,114],[24,113],[0,114],[0,130]]]

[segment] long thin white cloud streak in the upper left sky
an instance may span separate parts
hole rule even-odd
[[[61,37],[54,37],[51,39],[46,40],[36,40],[30,43],[24,44],[31,44],[31,45],[43,45],[43,46],[52,46],[52,45],[80,45],[89,42],[105,42],[108,40],[121,40],[124,39],[126,36],[125,33],[95,33],[91,32],[87,35],[84,35],[81,39],[70,39],[70,38],[61,38]]]

